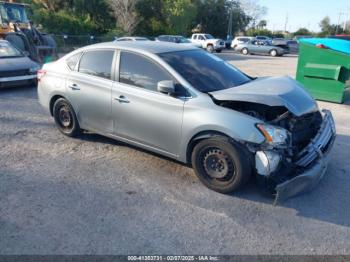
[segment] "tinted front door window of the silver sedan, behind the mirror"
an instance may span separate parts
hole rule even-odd
[[[158,82],[174,80],[163,68],[142,55],[121,52],[119,81],[157,92]]]

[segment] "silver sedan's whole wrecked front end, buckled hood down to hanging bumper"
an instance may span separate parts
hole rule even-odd
[[[332,114],[289,77],[260,78],[210,93],[214,103],[261,123],[262,144],[242,141],[255,157],[260,184],[276,195],[275,203],[311,190],[327,169],[336,136]]]

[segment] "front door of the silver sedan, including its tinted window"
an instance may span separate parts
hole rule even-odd
[[[159,81],[174,78],[150,58],[126,51],[120,52],[118,71],[112,90],[116,135],[177,156],[184,100],[157,91]]]

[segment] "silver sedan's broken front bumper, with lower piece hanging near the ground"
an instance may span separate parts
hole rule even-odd
[[[312,190],[327,170],[328,155],[333,146],[336,130],[332,113],[324,110],[321,128],[315,138],[299,154],[296,166],[303,170],[294,178],[276,186],[275,204],[295,195]]]

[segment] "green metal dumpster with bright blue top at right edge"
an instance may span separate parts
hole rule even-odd
[[[302,39],[296,79],[318,100],[350,99],[350,41]]]

